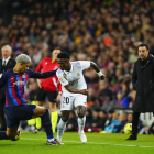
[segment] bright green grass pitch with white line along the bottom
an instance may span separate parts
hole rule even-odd
[[[127,134],[86,133],[88,142],[80,143],[78,133],[65,132],[65,145],[45,145],[45,133],[22,132],[16,142],[1,140],[0,154],[153,154],[154,136],[139,135],[138,141],[127,141]],[[55,135],[56,136],[56,135]]]

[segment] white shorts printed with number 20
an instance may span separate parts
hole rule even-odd
[[[84,106],[86,107],[87,96],[86,95],[77,95],[77,96],[65,96],[62,95],[61,99],[61,110],[72,110],[73,107]]]

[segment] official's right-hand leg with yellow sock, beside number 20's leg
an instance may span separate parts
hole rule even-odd
[[[57,120],[58,120],[58,113],[57,113],[56,109],[57,109],[56,108],[56,102],[50,102],[53,133],[55,133],[56,124],[57,124]]]

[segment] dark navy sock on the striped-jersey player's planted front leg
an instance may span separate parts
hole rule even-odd
[[[41,117],[41,120],[42,120],[42,125],[45,129],[47,140],[53,139],[54,136],[53,136],[53,131],[52,131],[52,123],[51,123],[50,113],[47,109],[45,113]]]

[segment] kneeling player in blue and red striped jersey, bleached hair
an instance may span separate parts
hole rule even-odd
[[[31,58],[25,54],[21,54],[16,57],[15,67],[0,75],[0,86],[4,86],[6,89],[4,113],[7,114],[7,131],[0,132],[0,140],[15,140],[19,135],[16,132],[20,120],[41,117],[47,135],[46,144],[61,144],[53,136],[47,109],[35,105],[25,105],[26,99],[24,98],[24,87],[28,78],[47,78],[54,76],[56,70],[35,73],[29,69],[30,63]]]

